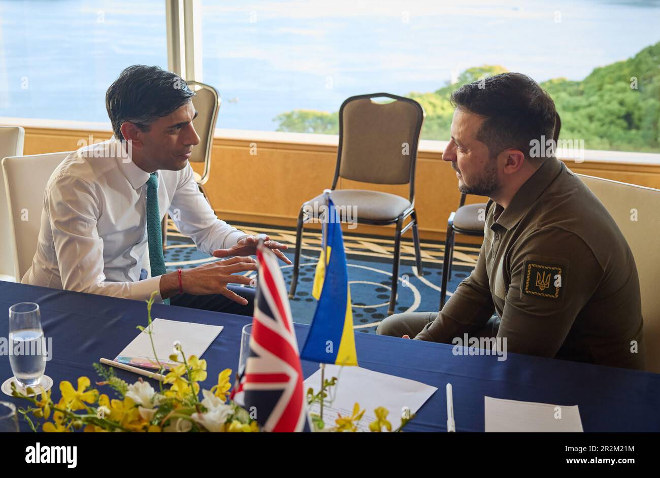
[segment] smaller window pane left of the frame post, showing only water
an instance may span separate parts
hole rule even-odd
[[[0,1],[0,116],[108,122],[136,63],[168,66],[162,0]]]

